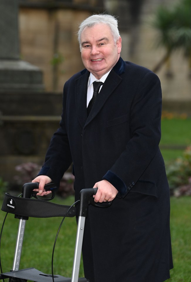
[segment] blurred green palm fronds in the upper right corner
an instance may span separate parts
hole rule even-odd
[[[171,10],[159,6],[152,26],[159,31],[156,43],[166,49],[153,71],[158,71],[165,62],[169,70],[171,53],[175,49],[183,49],[185,56],[189,58],[191,75],[191,0],[182,0]]]

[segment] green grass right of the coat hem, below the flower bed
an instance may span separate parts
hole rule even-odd
[[[174,268],[169,282],[191,282],[191,197],[171,197],[171,240]]]

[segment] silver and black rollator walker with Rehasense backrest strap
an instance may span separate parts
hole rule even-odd
[[[80,191],[78,208],[74,206],[59,205],[36,198],[37,192],[34,192],[33,189],[38,189],[38,184],[39,183],[37,182],[24,184],[22,188],[22,197],[11,196],[9,193],[5,193],[1,210],[15,214],[15,218],[19,219],[19,225],[13,267],[10,272],[0,274],[0,279],[9,278],[9,282],[26,282],[27,280],[35,282],[89,282],[86,278],[79,278],[82,241],[85,219],[88,215],[88,206],[89,204],[92,204],[98,207],[109,207],[111,202],[95,203],[93,195],[96,194],[97,188],[90,188],[82,189]],[[45,185],[45,190],[54,189],[55,185],[53,183]],[[36,199],[31,199],[32,197],[35,197]],[[53,273],[52,275],[45,274],[33,267],[20,270],[19,263],[21,259],[26,220],[28,220],[29,217],[47,218],[56,216],[78,216],[72,278],[60,275],[55,276]]]

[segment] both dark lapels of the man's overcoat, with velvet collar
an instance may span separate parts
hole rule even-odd
[[[78,118],[82,128],[87,126],[92,121],[92,119],[94,119],[94,117],[102,109],[103,105],[105,104],[111,93],[121,83],[122,78],[120,77],[120,75],[125,72],[125,65],[126,63],[120,57],[117,64],[110,71],[107,79],[105,80],[88,117],[87,83],[89,79],[89,71],[85,69],[81,72],[82,76],[80,76],[80,78],[75,81],[75,101]]]

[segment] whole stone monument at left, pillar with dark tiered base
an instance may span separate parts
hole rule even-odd
[[[14,183],[16,165],[39,160],[38,148],[42,151],[45,146],[41,134],[48,132],[43,129],[47,123],[52,129],[51,119],[35,115],[42,112],[36,104],[43,105],[44,96],[42,71],[20,59],[18,0],[0,0],[0,178],[4,181]]]

